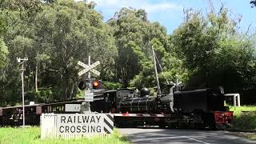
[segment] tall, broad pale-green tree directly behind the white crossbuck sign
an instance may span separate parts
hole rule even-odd
[[[101,61],[102,79],[111,78],[116,49],[110,28],[102,22],[102,15],[85,2],[58,1],[43,6],[36,17],[35,30],[39,54],[50,56],[45,85],[58,91],[58,98],[73,98],[77,94],[78,65]],[[46,81],[47,79],[53,81]]]

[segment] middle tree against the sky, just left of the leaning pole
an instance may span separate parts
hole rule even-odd
[[[158,38],[166,45],[166,29],[158,22],[149,22],[145,10],[132,8],[122,8],[108,23],[113,27],[118,47],[117,78],[124,86],[129,86],[130,80],[142,70],[141,58],[152,54],[149,44],[151,39]]]

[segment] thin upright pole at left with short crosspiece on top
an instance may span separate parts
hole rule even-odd
[[[21,73],[21,78],[22,78],[22,120],[23,120],[23,125],[22,127],[25,128],[25,102],[24,102],[24,62],[26,62],[28,58],[17,58],[18,63],[22,65],[22,73]]]

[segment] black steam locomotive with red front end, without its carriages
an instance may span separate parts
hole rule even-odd
[[[172,86],[169,94],[157,97],[150,96],[146,88],[142,88],[140,94],[129,89],[98,92],[91,109],[110,111],[117,126],[225,129],[232,125],[233,112],[224,106],[222,88],[174,90]]]

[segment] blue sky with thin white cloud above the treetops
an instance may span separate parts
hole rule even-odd
[[[171,34],[183,21],[183,10],[193,8],[202,10],[203,14],[209,11],[209,0],[87,0],[96,2],[95,9],[102,13],[103,20],[113,18],[114,13],[122,7],[144,9],[150,22],[159,22],[166,27],[167,34]],[[256,31],[256,7],[250,7],[250,0],[211,0],[214,10],[224,4],[230,10],[233,18],[242,16],[239,24],[241,31]]]

